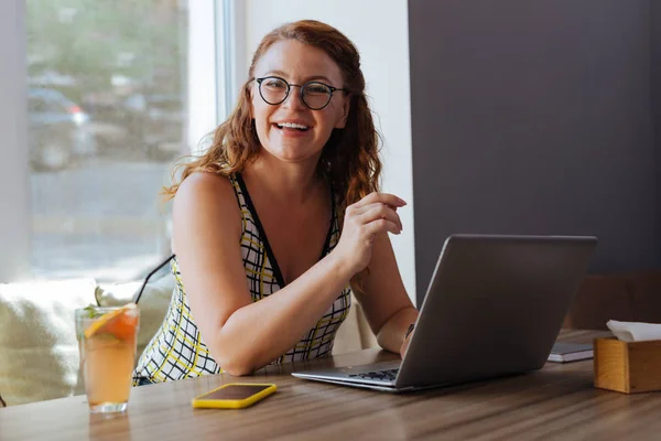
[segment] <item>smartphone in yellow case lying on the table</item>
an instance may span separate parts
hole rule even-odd
[[[241,409],[278,390],[272,384],[230,383],[193,398],[194,408]]]

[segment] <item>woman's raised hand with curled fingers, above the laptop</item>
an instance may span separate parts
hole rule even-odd
[[[371,260],[372,243],[381,233],[400,234],[402,222],[397,208],[407,203],[393,194],[370,193],[345,212],[342,237],[334,254],[339,256],[353,275]]]

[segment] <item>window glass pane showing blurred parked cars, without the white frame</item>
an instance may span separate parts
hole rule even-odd
[[[159,203],[186,140],[187,7],[28,0],[35,277],[139,277],[167,254]]]

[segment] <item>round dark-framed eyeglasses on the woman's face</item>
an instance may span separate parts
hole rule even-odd
[[[301,87],[301,101],[311,110],[321,110],[328,106],[333,93],[339,89],[321,82],[307,82],[304,85],[289,84],[279,76],[266,76],[256,78],[259,84],[259,95],[272,106],[283,103],[289,96],[292,87]]]

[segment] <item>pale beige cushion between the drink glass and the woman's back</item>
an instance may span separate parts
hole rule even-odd
[[[98,304],[101,306],[119,306],[132,301],[142,287],[142,282],[99,284],[96,290]],[[172,275],[164,276],[144,288],[138,306],[140,308],[140,330],[138,332],[138,356],[154,336],[170,305],[174,290]],[[138,358],[136,358],[136,362]]]

